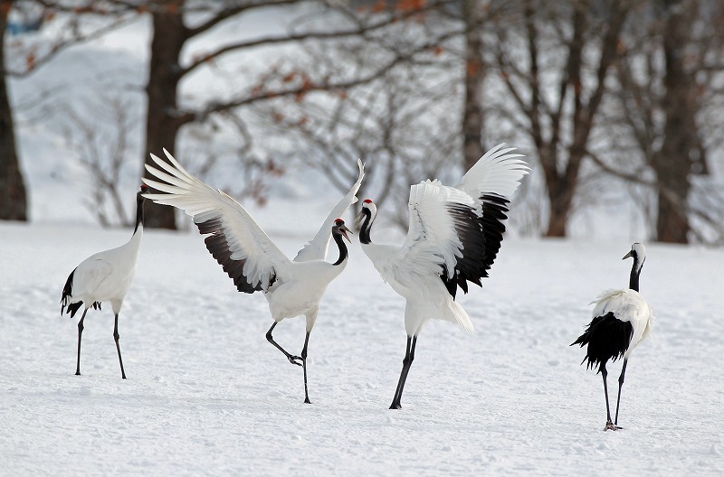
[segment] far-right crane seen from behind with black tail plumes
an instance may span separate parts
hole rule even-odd
[[[629,289],[608,290],[598,295],[595,301],[591,302],[591,304],[595,304],[593,320],[586,326],[586,332],[571,343],[571,346],[579,344],[581,348],[587,346],[586,358],[581,361],[581,364],[588,360],[586,369],[597,366],[598,372],[604,379],[606,414],[604,430],[611,429],[612,431],[622,428],[618,426],[618,406],[621,404],[621,388],[624,386],[628,357],[631,355],[631,351],[649,336],[653,323],[652,310],[639,293],[639,276],[643,268],[643,261],[646,259],[646,249],[642,244],[634,243],[631,251],[623,259],[629,257],[633,257]],[[608,360],[615,361],[622,357],[624,366],[618,377],[616,414],[612,422],[611,408],[608,406],[608,384],[606,382],[608,372],[605,370],[605,364]]]

